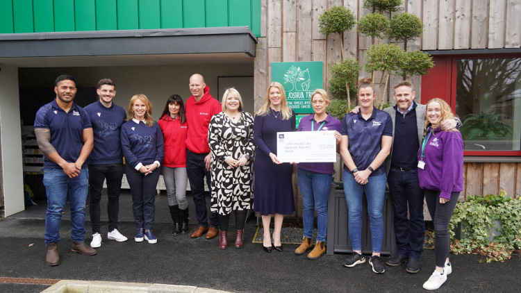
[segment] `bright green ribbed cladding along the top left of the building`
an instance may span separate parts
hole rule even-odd
[[[249,26],[261,0],[0,0],[0,33]]]

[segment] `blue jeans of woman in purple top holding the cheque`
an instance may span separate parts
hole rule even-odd
[[[297,169],[299,189],[302,194],[302,221],[304,221],[304,237],[313,239],[313,221],[317,210],[317,241],[325,242],[327,234],[327,199],[331,190],[331,174],[317,173]]]

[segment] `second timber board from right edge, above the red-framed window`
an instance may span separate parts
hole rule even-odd
[[[505,8],[505,0],[490,0],[490,16],[488,17],[488,49],[504,47]]]

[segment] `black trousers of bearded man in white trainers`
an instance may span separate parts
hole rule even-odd
[[[108,232],[117,228],[119,215],[119,194],[123,178],[123,163],[93,165],[89,164],[90,223],[92,234],[101,233],[99,224],[99,201],[103,192],[103,182],[107,181]]]

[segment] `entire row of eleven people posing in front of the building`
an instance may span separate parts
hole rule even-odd
[[[168,97],[158,122],[144,94],[134,95],[127,111],[113,103],[115,85],[99,81],[96,101],[85,109],[74,104],[76,81],[63,75],[56,79],[56,99],[38,111],[35,134],[45,155],[47,187],[45,243],[47,265],[58,265],[57,244],[61,211],[69,196],[72,251],[94,255],[101,246],[100,207],[104,181],[108,193],[108,239],[127,239],[117,230],[119,193],[123,170],[131,188],[135,242],[153,244],[156,185],[163,172],[174,236],[186,234],[187,180],[195,202],[198,228],[192,238],[220,236],[219,247],[228,246],[231,212],[235,212],[235,248],[244,245],[247,211],[262,217],[263,250],[283,251],[283,215],[295,211],[292,173],[297,172],[303,201],[303,241],[295,250],[307,258],[325,253],[327,201],[334,174],[332,162],[282,163],[276,155],[276,133],[295,131],[295,112],[288,108],[280,83],[270,83],[255,117],[245,112],[240,93],[230,88],[222,103],[213,99],[200,74],[190,77],[192,96]],[[386,261],[406,271],[420,269],[424,238],[423,201],[427,199],[436,231],[436,270],[426,289],[437,289],[452,272],[449,262],[449,219],[463,187],[463,140],[452,112],[441,99],[427,106],[413,101],[413,85],[395,85],[396,106],[374,108],[376,92],[370,78],[358,86],[358,104],[340,122],[326,112],[331,103],[324,90],[311,95],[313,114],[303,117],[297,131],[334,131],[342,156],[343,184],[348,208],[349,237],[354,253],[346,267],[365,262],[362,254],[362,202],[367,198],[370,219],[372,271],[383,273],[380,258],[383,240],[383,199],[386,183],[395,210],[398,254]],[[427,109],[427,110],[426,110]],[[122,160],[124,158],[124,162]],[[88,162],[88,164],[85,164]],[[88,172],[88,173],[87,173]],[[206,208],[204,181],[211,193],[210,215]],[[85,200],[90,186],[92,242],[85,241]],[[314,210],[317,238],[313,245]],[[270,233],[272,215],[274,229]]]

